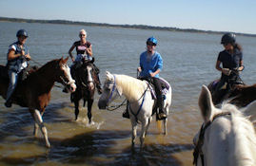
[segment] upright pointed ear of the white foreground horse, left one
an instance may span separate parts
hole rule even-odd
[[[201,94],[199,96],[198,105],[201,109],[201,114],[205,122],[211,120],[211,115],[214,111],[214,105],[211,100],[211,94],[206,85],[202,86]]]

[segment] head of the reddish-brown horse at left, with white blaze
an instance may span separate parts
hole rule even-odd
[[[61,58],[58,60],[56,72],[59,77],[57,78],[57,82],[64,84],[69,88],[71,92],[74,92],[76,89],[76,85],[75,81],[71,77],[69,65],[67,65],[68,60],[69,57],[67,57],[66,59]]]

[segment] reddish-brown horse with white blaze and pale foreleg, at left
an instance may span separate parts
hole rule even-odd
[[[46,65],[30,73],[26,80],[17,84],[12,95],[13,103],[22,107],[28,107],[35,121],[33,135],[37,137],[38,128],[45,138],[46,146],[50,147],[47,128],[42,116],[50,100],[50,91],[55,82],[62,83],[74,91],[75,81],[71,78],[70,69],[67,65],[68,58],[52,60]],[[1,70],[5,69],[2,65]],[[6,99],[9,78],[0,79],[0,95]]]

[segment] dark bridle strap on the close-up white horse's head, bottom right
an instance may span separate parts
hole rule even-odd
[[[203,154],[202,147],[204,145],[205,133],[206,133],[207,128],[210,126],[210,124],[213,122],[213,120],[216,120],[217,118],[220,118],[223,116],[230,116],[230,115],[231,115],[230,112],[223,112],[220,114],[216,114],[213,117],[212,121],[208,121],[206,125],[202,124],[200,132],[199,132],[199,139],[197,141],[197,144],[196,144],[196,146],[194,148],[194,152],[193,152],[193,157],[194,157],[193,164],[194,165],[197,165],[197,159],[198,159],[199,155],[201,157],[202,165],[203,166],[205,165],[205,161],[204,161],[205,156]]]

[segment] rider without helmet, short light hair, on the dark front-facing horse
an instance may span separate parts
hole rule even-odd
[[[92,47],[91,44],[87,41],[87,31],[85,29],[81,29],[79,32],[79,37],[80,37],[80,41],[76,41],[73,43],[73,45],[70,47],[69,49],[69,56],[72,60],[73,63],[77,63],[77,62],[81,62],[83,59],[84,60],[92,60]],[[76,58],[74,59],[73,55],[72,55],[72,50],[76,48]],[[73,70],[74,65],[71,66],[71,70]],[[101,83],[100,83],[100,79],[99,79],[99,73],[100,70],[99,68],[94,65],[94,69],[96,71],[96,87],[98,89],[98,93],[101,94],[102,93],[102,88],[101,88]]]

